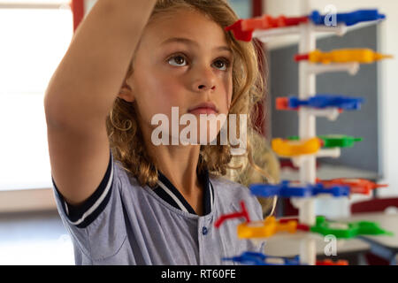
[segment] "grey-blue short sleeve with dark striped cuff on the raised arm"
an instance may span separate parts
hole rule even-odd
[[[111,153],[100,185],[79,206],[66,203],[52,180],[58,213],[75,248],[87,256],[85,262],[113,256],[126,239],[120,170]]]

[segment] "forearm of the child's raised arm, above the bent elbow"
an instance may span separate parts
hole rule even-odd
[[[57,125],[103,123],[156,0],[99,0],[82,21],[44,98]]]

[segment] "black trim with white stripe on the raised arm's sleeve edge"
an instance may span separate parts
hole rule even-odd
[[[105,209],[111,198],[111,189],[113,181],[113,158],[110,152],[109,164],[106,169],[105,175],[96,191],[88,197],[88,199],[81,203],[79,206],[74,206],[65,202],[64,197],[57,189],[57,185],[51,176],[54,188],[62,203],[62,208],[69,221],[79,228],[85,228],[90,225],[98,215]]]

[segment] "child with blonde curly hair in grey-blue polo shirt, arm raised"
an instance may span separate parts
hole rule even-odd
[[[237,238],[238,220],[214,227],[242,200],[262,218],[247,187],[222,177],[233,158],[219,143],[222,123],[216,145],[153,135],[154,116],[171,121],[172,107],[180,117],[251,117],[263,83],[252,43],[223,29],[236,20],[223,0],[98,0],[77,29],[44,99],[76,264],[224,264],[262,249]]]

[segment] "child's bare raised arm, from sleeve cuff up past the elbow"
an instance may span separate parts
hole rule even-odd
[[[51,173],[70,204],[84,202],[106,172],[105,119],[156,0],[98,0],[73,36],[44,97]]]

